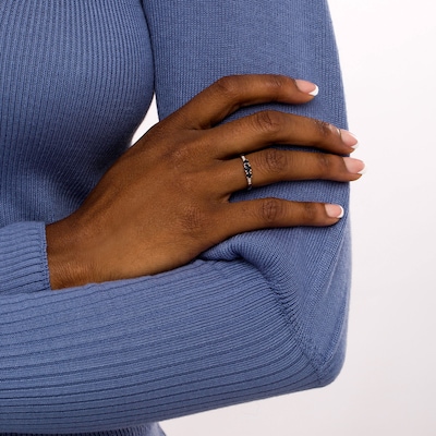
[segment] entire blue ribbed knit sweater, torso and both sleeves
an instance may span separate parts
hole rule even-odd
[[[338,375],[347,216],[241,234],[154,277],[49,288],[45,223],[78,207],[153,93],[166,117],[235,73],[313,81],[311,104],[272,107],[346,128],[323,0],[0,2],[0,433],[154,436],[144,423]],[[347,184],[318,181],[234,201],[265,195],[348,209]]]

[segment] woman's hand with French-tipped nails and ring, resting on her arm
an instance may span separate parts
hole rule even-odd
[[[363,162],[341,155],[356,140],[330,124],[261,111],[219,124],[243,106],[305,104],[315,85],[276,75],[225,77],[149,130],[70,217],[47,227],[53,289],[173,269],[237,233],[330,226],[338,205],[278,198],[229,203],[247,187],[292,180],[360,178]],[[219,125],[218,125],[219,124]],[[323,153],[268,148],[317,147]]]

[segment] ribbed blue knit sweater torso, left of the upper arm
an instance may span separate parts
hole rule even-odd
[[[0,41],[0,225],[53,221],[77,207],[146,113],[144,12],[138,0],[2,1]]]

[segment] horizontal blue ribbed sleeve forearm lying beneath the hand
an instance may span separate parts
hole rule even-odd
[[[277,299],[241,261],[3,298],[0,428],[116,428],[330,382],[340,355],[315,367]]]

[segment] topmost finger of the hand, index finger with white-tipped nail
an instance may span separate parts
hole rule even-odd
[[[311,101],[315,84],[276,74],[222,77],[179,109],[183,128],[209,129],[238,109],[263,102],[301,105]]]

